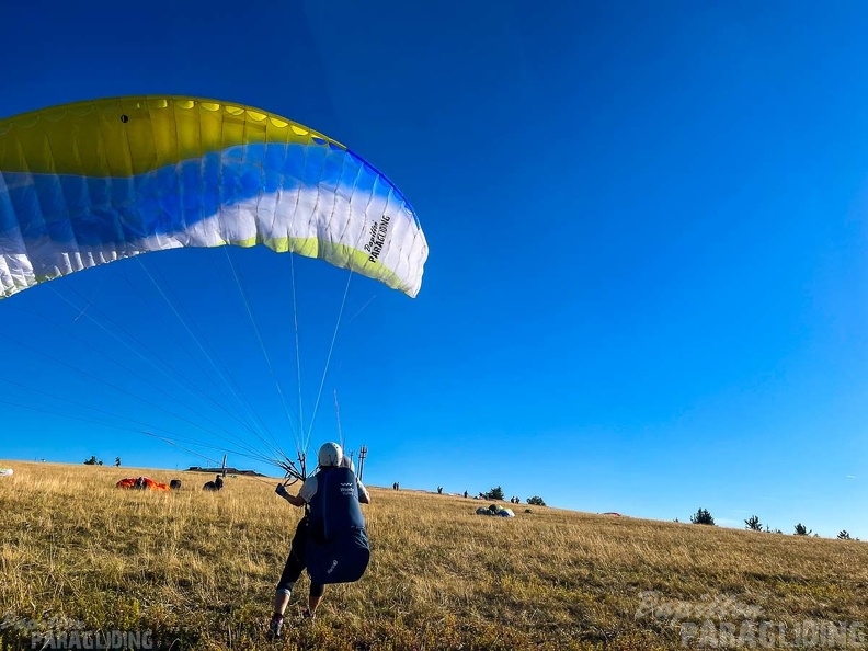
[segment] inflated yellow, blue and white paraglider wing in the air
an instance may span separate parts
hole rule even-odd
[[[0,121],[0,298],[148,251],[264,244],[414,297],[427,244],[403,195],[283,117],[179,96]]]

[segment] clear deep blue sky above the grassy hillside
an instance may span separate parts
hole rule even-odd
[[[336,390],[369,483],[868,537],[868,8],[465,4],[13,3],[0,114],[230,100],[397,184],[431,247],[422,290],[352,278],[312,434],[335,436]],[[226,252],[147,258],[0,304],[0,458],[204,462],[117,429],[138,422],[262,449],[148,274],[295,446]],[[288,260],[230,258],[295,409]],[[295,271],[309,419],[347,276]]]

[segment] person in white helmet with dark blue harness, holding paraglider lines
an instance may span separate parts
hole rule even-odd
[[[310,590],[302,616],[312,619],[326,584],[358,581],[370,558],[365,519],[358,506],[359,502],[370,503],[367,489],[336,443],[323,444],[318,460],[317,472],[308,477],[297,495],[289,494],[282,483],[275,490],[293,506],[304,506],[305,515],[298,522],[277,582],[274,614],[266,635],[270,640],[281,637],[284,613],[304,569],[307,568],[310,576]]]

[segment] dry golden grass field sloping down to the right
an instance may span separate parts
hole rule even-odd
[[[726,643],[730,625],[744,642],[745,623],[770,621],[777,637],[761,630],[756,647],[868,648],[866,542],[525,505],[483,517],[488,503],[378,489],[364,507],[366,575],[329,586],[313,624],[295,616],[304,578],[285,637],[269,643],[301,515],[275,481],[227,479],[215,494],[199,490],[212,476],[3,465],[15,469],[0,477],[7,644],[30,648],[28,627],[77,626],[151,630],[176,649],[650,650]],[[184,487],[114,488],[138,475]]]

